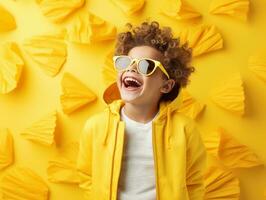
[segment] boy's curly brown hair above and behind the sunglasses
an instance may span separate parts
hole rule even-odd
[[[175,99],[181,87],[186,87],[189,76],[195,71],[190,66],[192,49],[188,44],[180,44],[179,38],[174,38],[170,27],[162,27],[156,21],[143,22],[140,26],[133,27],[126,24],[128,30],[117,36],[115,55],[127,55],[136,46],[147,45],[160,51],[163,55],[162,64],[171,79],[175,80],[175,86],[170,93],[164,94],[162,100]]]

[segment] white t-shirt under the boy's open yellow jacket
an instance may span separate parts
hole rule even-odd
[[[152,120],[139,123],[125,115],[125,142],[118,200],[156,200],[155,172],[152,148]]]

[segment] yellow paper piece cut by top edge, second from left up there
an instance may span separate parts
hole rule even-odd
[[[111,0],[111,2],[128,16],[142,9],[145,4],[145,0]]]

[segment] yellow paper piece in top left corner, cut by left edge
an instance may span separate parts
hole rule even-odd
[[[0,32],[11,31],[17,27],[13,15],[2,5],[0,5],[0,13]]]

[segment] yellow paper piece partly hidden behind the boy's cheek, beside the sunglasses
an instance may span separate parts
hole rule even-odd
[[[113,51],[107,54],[104,60],[104,66],[102,68],[102,78],[106,86],[109,86],[111,83],[116,81],[117,73],[114,69],[113,56]]]

